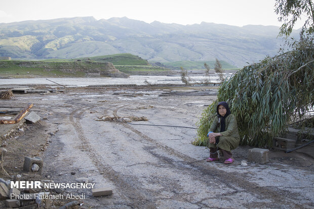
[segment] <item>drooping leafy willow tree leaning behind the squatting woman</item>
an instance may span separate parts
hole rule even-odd
[[[237,117],[241,144],[271,145],[294,118],[314,106],[313,37],[296,41],[292,50],[244,67],[225,80],[198,122],[195,145],[207,145],[207,132],[219,101]]]

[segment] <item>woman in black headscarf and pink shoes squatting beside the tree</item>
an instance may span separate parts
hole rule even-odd
[[[207,135],[210,149],[210,156],[207,161],[219,160],[217,150],[221,150],[224,163],[230,164],[234,161],[230,151],[237,148],[240,143],[237,119],[231,114],[226,102],[218,103],[217,114]]]

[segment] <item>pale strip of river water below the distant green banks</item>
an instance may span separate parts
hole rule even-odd
[[[226,76],[230,76],[226,73]],[[191,82],[204,81],[204,76],[191,76]],[[180,76],[142,76],[133,75],[129,78],[116,78],[116,77],[56,77],[48,78],[63,86],[76,86],[85,87],[91,85],[147,85],[147,82],[154,84],[183,84]],[[210,77],[212,82],[218,82],[218,76],[212,75]],[[55,85],[55,83],[47,80],[46,78],[11,78],[0,79],[0,85]],[[146,81],[147,82],[146,82]]]

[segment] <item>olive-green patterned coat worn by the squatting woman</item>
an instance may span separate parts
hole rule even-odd
[[[226,129],[220,134],[218,147],[226,151],[231,151],[239,146],[240,135],[238,131],[237,119],[233,114],[229,114],[225,118]],[[216,116],[211,127],[208,130],[209,132],[219,133],[220,132],[220,123],[218,123],[218,117]],[[216,148],[215,144],[208,143],[208,147]]]

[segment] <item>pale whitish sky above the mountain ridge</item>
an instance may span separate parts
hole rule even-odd
[[[1,0],[0,23],[93,16],[128,17],[147,23],[204,22],[243,26],[276,25],[274,0]],[[302,24],[298,24],[297,28]]]

